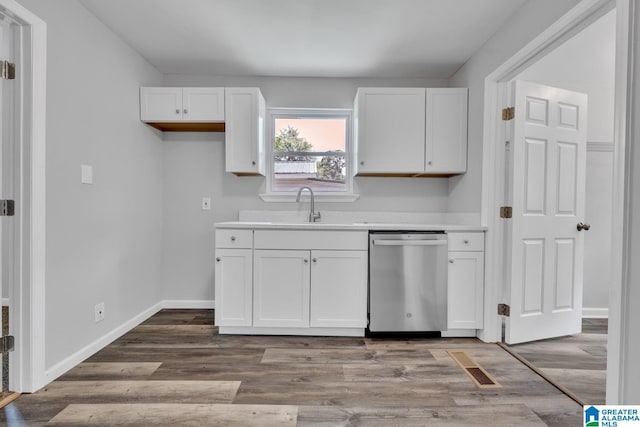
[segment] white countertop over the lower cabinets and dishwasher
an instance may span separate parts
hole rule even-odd
[[[479,225],[456,224],[403,224],[403,223],[279,223],[261,221],[218,222],[216,228],[255,229],[255,230],[402,230],[402,231],[485,231]]]

